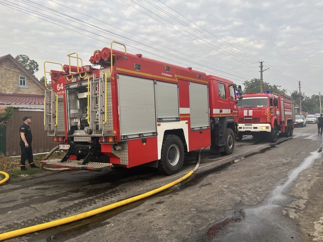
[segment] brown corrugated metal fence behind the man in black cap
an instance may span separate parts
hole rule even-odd
[[[33,134],[33,153],[48,152],[57,146],[57,143],[52,142],[52,137],[48,137],[44,130],[44,112],[18,111],[15,108],[13,120],[6,124],[6,156],[21,154],[19,127],[23,124],[23,116],[32,116],[30,129]]]

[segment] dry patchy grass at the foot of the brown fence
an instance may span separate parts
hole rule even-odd
[[[34,157],[34,162],[36,166],[40,166],[41,161],[46,156],[46,154],[42,156]],[[54,153],[50,158],[62,158],[62,156],[58,153]],[[20,176],[30,176],[37,173],[44,172],[44,170],[39,168],[30,168],[28,161],[26,161],[26,171],[20,170],[20,159],[16,161],[11,161],[9,157],[6,157],[3,153],[0,152],[0,171],[5,171],[9,174],[10,179],[18,178]],[[5,176],[0,174],[0,180],[4,179]]]

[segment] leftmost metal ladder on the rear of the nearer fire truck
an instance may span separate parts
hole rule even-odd
[[[45,131],[48,132],[48,136],[54,136],[55,127],[55,100],[54,91],[52,89],[45,91],[45,103],[44,103],[44,126]]]

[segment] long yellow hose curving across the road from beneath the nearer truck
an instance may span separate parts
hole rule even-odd
[[[60,226],[60,225],[63,225],[63,224],[68,224],[68,223],[71,223],[71,222],[75,222],[77,220],[87,218],[87,217],[91,217],[91,216],[94,216],[94,215],[109,211],[111,209],[121,207],[123,205],[138,201],[140,199],[150,197],[150,196],[152,196],[152,195],[154,195],[156,193],[159,193],[161,191],[164,191],[164,190],[166,190],[166,189],[168,189],[168,188],[170,188],[172,186],[175,186],[176,184],[184,181],[185,179],[190,177],[194,172],[196,172],[196,170],[198,169],[198,167],[200,165],[202,150],[203,149],[200,149],[200,151],[199,151],[198,161],[197,161],[197,164],[194,167],[194,169],[191,170],[189,173],[187,173],[185,176],[182,176],[181,178],[179,178],[179,179],[177,179],[177,180],[175,180],[175,181],[173,181],[171,183],[168,183],[168,184],[166,184],[166,185],[164,185],[162,187],[158,187],[158,188],[156,188],[154,190],[151,190],[149,192],[137,195],[135,197],[130,197],[130,198],[127,198],[127,199],[122,200],[120,202],[116,202],[116,203],[113,203],[113,204],[110,204],[110,205],[107,205],[107,206],[104,206],[104,207],[99,207],[99,208],[93,209],[93,210],[88,211],[88,212],[84,212],[84,213],[80,213],[80,214],[73,215],[73,216],[70,216],[70,217],[61,218],[61,219],[57,219],[57,220],[50,221],[50,222],[47,222],[47,223],[38,224],[38,225],[31,226],[31,227],[21,228],[21,229],[17,229],[17,230],[13,230],[13,231],[10,231],[10,232],[0,234],[0,241],[5,240],[5,239],[9,239],[9,238],[13,238],[13,237],[17,237],[17,236],[21,236],[21,235],[25,235],[25,234],[29,234],[29,233],[33,233],[33,232],[40,231],[40,230],[43,230],[43,229],[52,228],[52,227]]]

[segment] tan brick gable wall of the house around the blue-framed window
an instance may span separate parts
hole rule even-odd
[[[19,75],[26,76],[27,88],[19,87]],[[44,90],[35,83],[33,77],[26,75],[25,72],[9,59],[0,62],[0,92],[5,94],[44,95]]]

